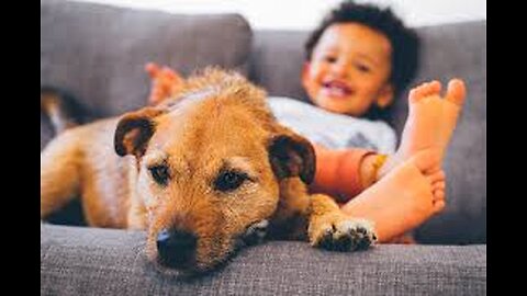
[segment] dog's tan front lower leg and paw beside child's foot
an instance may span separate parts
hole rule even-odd
[[[350,218],[327,195],[311,195],[307,236],[313,247],[335,251],[367,249],[377,238],[371,223]]]

